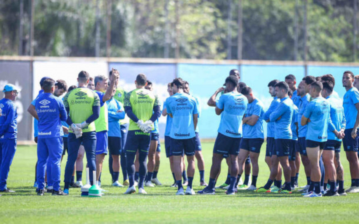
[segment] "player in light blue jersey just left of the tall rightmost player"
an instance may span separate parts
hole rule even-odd
[[[329,179],[330,190],[328,190],[324,196],[337,196],[346,195],[344,192],[344,179],[343,179],[343,170],[342,167],[336,170],[334,164],[335,152],[340,153],[341,141],[344,137],[344,130],[346,125],[346,120],[344,116],[344,108],[340,100],[332,95],[333,84],[330,81],[323,82],[322,96],[327,99],[330,104],[330,118],[336,130],[340,130],[340,138],[338,138],[333,132],[328,130],[328,140],[327,144],[323,150],[323,162],[327,178]],[[340,180],[338,179],[340,176]],[[328,180],[326,179],[326,180]],[[338,180],[338,181],[337,181]],[[339,184],[339,189],[336,189],[336,181]]]

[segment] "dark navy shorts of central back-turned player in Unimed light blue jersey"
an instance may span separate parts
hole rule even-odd
[[[171,138],[171,151],[173,156],[183,156],[183,153],[186,154],[186,156],[194,156],[195,148],[195,137],[187,139]]]

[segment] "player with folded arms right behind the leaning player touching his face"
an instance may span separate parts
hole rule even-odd
[[[241,150],[238,155],[239,173],[241,176],[243,173],[243,164],[246,161],[248,155],[251,158],[252,163],[252,184],[248,187],[248,183],[241,185],[238,190],[256,190],[257,189],[257,177],[259,172],[258,157],[261,151],[262,144],[264,142],[264,130],[263,130],[263,104],[256,99],[253,95],[251,87],[245,87],[242,92],[247,97],[248,106],[246,113],[243,116],[243,137],[241,140]],[[237,178],[239,180],[239,178]]]

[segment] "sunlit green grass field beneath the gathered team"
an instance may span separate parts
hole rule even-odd
[[[213,144],[202,143],[207,182]],[[264,152],[265,144],[257,186],[264,185],[269,175]],[[62,161],[61,178],[65,161]],[[341,161],[347,188],[350,176],[344,153]],[[223,190],[218,190],[216,195],[176,196],[177,189],[169,187],[173,180],[164,152],[158,173],[164,186],[147,187],[148,195],[123,195],[125,188],[112,187],[106,161],[101,179],[102,188],[109,192],[103,197],[80,197],[80,189],[70,189],[69,196],[46,194],[39,197],[32,187],[35,163],[36,147],[19,146],[8,179],[8,187],[16,193],[0,197],[0,223],[359,223],[359,194],[304,198],[297,192],[278,195],[241,191],[227,196]],[[219,184],[227,176],[224,161],[222,165]],[[306,184],[302,167],[299,178],[300,186]],[[197,167],[194,189],[202,189]]]

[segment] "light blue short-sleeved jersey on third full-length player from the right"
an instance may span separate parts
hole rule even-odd
[[[323,97],[314,98],[303,114],[309,118],[306,140],[326,142],[328,139],[328,123],[330,121],[330,104]],[[332,129],[331,129],[332,130]]]

